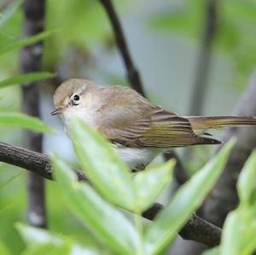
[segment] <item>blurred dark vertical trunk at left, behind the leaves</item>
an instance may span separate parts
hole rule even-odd
[[[24,36],[31,37],[44,31],[44,0],[25,0]],[[23,73],[41,71],[43,42],[34,43],[21,50],[21,70]],[[38,82],[23,84],[23,111],[31,116],[40,117],[40,96]],[[42,134],[26,131],[24,144],[33,151],[42,151]],[[44,179],[32,172],[27,176],[28,221],[36,227],[45,228],[46,209],[44,196]]]

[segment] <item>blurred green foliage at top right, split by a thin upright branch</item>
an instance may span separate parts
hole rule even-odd
[[[183,0],[170,3],[164,12],[150,18],[151,27],[177,32],[188,38],[201,38],[207,20],[208,1]],[[256,3],[253,0],[216,1],[218,30],[214,45],[219,52],[229,55],[236,70],[234,82],[246,84],[255,67]]]

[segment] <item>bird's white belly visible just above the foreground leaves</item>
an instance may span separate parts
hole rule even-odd
[[[115,148],[121,159],[131,170],[143,170],[158,154],[159,148]]]

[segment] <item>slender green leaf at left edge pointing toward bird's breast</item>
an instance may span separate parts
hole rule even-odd
[[[37,132],[55,133],[54,130],[45,125],[40,119],[15,112],[0,112],[1,127],[19,127]]]

